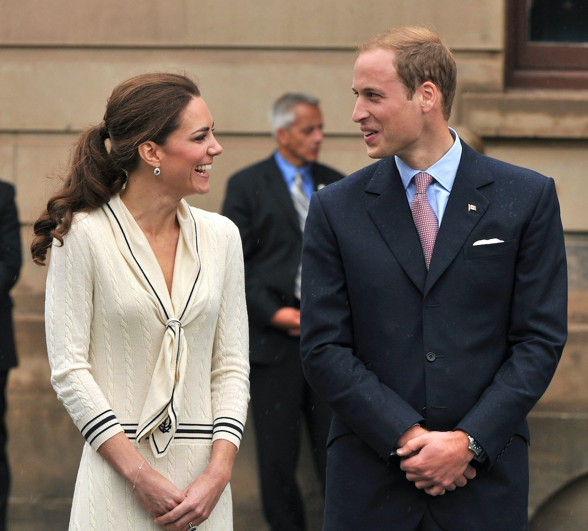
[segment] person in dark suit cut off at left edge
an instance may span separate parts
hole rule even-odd
[[[14,202],[14,186],[0,181],[0,531],[6,529],[10,474],[6,456],[6,380],[16,365],[9,291],[21,269],[21,232]]]

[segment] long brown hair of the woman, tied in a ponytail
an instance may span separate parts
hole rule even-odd
[[[148,140],[165,143],[195,96],[200,96],[198,86],[179,74],[143,74],[114,89],[104,120],[79,137],[61,189],[35,222],[31,243],[35,263],[45,265],[54,238],[63,245],[76,212],[90,212],[121,191],[128,173],[138,165],[138,146]]]

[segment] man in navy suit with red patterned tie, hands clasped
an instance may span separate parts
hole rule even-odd
[[[303,241],[303,368],[335,412],[323,529],[527,529],[526,415],[567,335],[553,179],[460,142],[432,32],[358,51],[381,160],[313,194]]]

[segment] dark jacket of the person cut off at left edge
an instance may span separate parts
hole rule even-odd
[[[0,370],[16,365],[9,291],[18,279],[21,263],[21,232],[14,186],[0,181]]]

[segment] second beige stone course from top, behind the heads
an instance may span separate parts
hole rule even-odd
[[[268,132],[270,103],[286,91],[316,95],[326,134],[356,135],[355,52],[259,50],[0,49],[0,131],[81,131],[101,121],[123,79],[151,71],[199,80],[217,131]],[[502,56],[456,52],[459,92],[499,90]],[[453,118],[459,118],[458,93]]]

